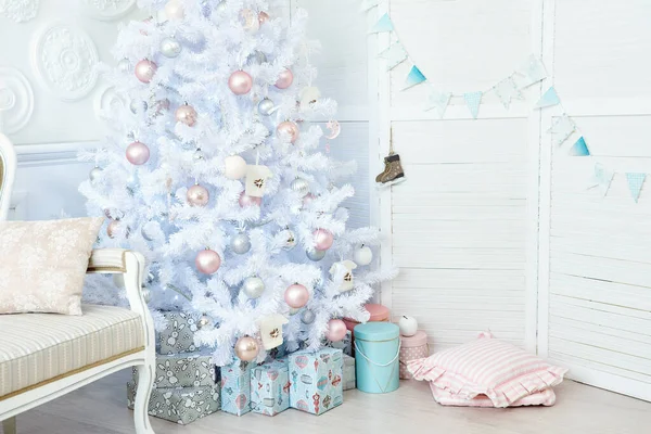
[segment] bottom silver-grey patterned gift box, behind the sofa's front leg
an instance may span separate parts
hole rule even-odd
[[[127,383],[127,406],[136,403],[135,383]],[[148,412],[155,418],[187,425],[219,411],[219,386],[154,388]]]

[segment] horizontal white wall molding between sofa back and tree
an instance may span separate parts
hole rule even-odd
[[[85,164],[77,159],[84,149],[94,148],[97,142],[62,142],[39,144],[16,144],[18,167],[52,166],[60,164]]]

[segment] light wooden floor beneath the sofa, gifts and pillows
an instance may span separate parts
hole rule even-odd
[[[18,434],[133,433],[119,372],[18,417]],[[275,432],[398,434],[641,434],[651,432],[651,404],[566,381],[550,408],[441,407],[425,383],[403,382],[388,395],[346,392],[344,405],[320,417],[288,410],[275,418],[218,412],[188,426],[152,418],[156,434]],[[273,430],[273,431],[270,431]]]

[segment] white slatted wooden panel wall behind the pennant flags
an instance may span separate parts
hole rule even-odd
[[[635,204],[622,175],[651,174],[651,3],[387,0],[373,15],[388,9],[441,90],[483,90],[529,53],[550,78],[510,112],[486,99],[472,120],[454,101],[438,120],[425,88],[399,90],[411,64],[387,75],[379,62],[372,159],[393,127],[408,178],[379,194],[383,264],[401,268],[383,302],[416,316],[435,350],[490,329],[570,378],[651,400],[651,193]],[[551,85],[596,159],[620,170],[605,199],[586,190],[595,161],[545,132],[559,112],[531,110]]]

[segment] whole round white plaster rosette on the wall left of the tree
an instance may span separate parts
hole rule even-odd
[[[36,40],[34,63],[44,87],[63,101],[86,97],[98,81],[98,50],[80,28],[58,24]]]

